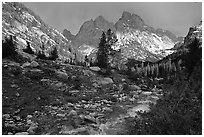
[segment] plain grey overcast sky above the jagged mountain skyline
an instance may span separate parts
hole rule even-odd
[[[178,2],[27,2],[24,3],[48,25],[62,32],[64,29],[76,34],[87,20],[102,15],[116,23],[123,11],[139,15],[154,28],[170,30],[177,36],[186,36],[189,27],[202,20],[202,3]]]

